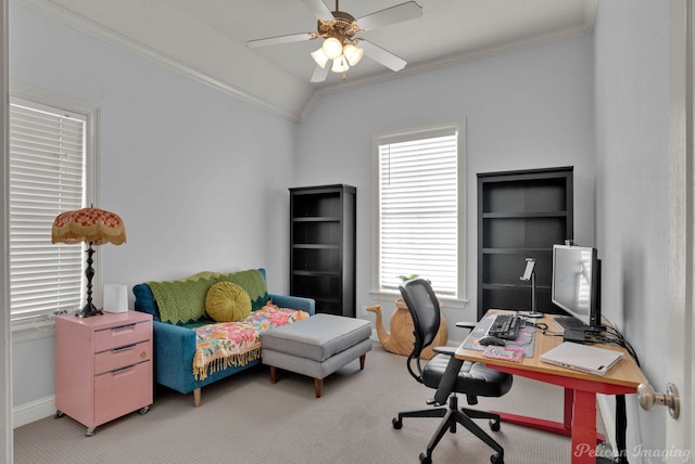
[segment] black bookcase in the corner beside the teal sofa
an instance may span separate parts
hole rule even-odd
[[[290,293],[316,312],[355,317],[356,189],[290,189]]]

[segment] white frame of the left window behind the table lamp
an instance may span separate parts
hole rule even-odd
[[[33,102],[40,106],[48,106],[54,109],[64,111],[66,113],[79,114],[85,117],[85,205],[99,204],[99,128],[100,128],[100,107],[73,96],[59,94],[49,90],[45,90],[24,82],[10,82],[10,104],[16,100]],[[8,180],[10,173],[8,173]],[[8,202],[10,198],[8,198]],[[9,219],[9,218],[8,218]],[[83,246],[84,249],[86,249]],[[94,268],[94,278],[92,285],[94,288],[101,287],[101,262],[96,260],[92,265]],[[86,268],[86,258],[83,262],[81,273]],[[8,276],[10,278],[10,275]],[[8,289],[10,287],[8,286]],[[86,300],[86,291],[84,294]],[[81,304],[84,305],[85,301]],[[79,309],[79,308],[75,308]],[[8,306],[8,311],[12,311]],[[9,314],[11,331],[15,341],[24,341],[34,338],[41,338],[52,334],[54,315],[45,313],[33,319],[12,321],[12,314]]]

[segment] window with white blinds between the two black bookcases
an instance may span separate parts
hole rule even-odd
[[[440,297],[465,295],[464,121],[375,137],[377,292],[418,274]]]

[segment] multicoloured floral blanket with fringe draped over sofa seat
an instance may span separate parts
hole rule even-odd
[[[269,328],[308,318],[308,312],[268,304],[240,322],[217,322],[195,327],[193,375],[207,375],[230,365],[245,365],[261,357],[261,334]]]

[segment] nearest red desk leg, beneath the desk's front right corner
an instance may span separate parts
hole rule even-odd
[[[574,390],[572,464],[596,462],[596,394]]]

